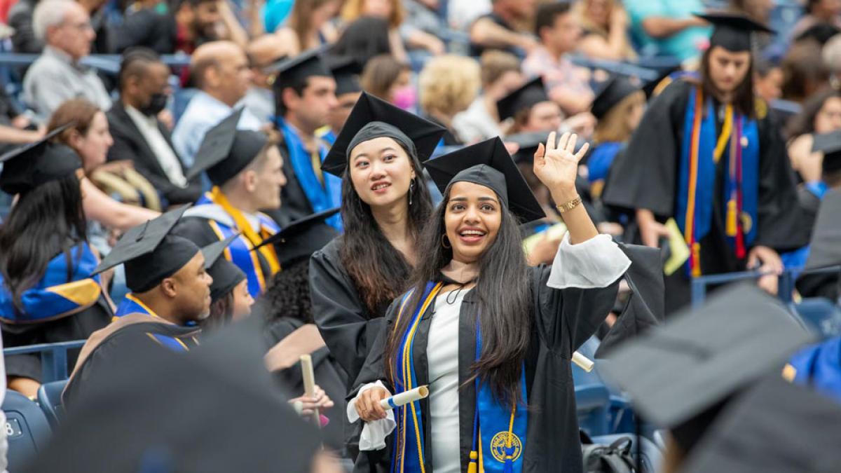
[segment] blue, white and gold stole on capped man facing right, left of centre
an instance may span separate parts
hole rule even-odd
[[[271,237],[280,231],[280,227],[278,227],[278,224],[270,217],[263,214],[256,215],[257,219],[260,221],[259,234],[253,231],[251,224],[248,223],[248,221],[239,219],[241,222],[238,223],[237,216],[231,215],[236,211],[231,209],[230,205],[228,205],[227,199],[225,199],[221,194],[219,188],[214,188],[213,191],[204,194],[201,199],[198,199],[196,202],[197,206],[206,204],[219,205],[221,209],[230,216],[231,220],[234,221],[234,226],[228,226],[212,219],[208,219],[208,224],[216,234],[216,237],[220,240],[225,240],[225,238],[237,233],[240,234],[240,236],[235,238],[233,242],[230,242],[230,245],[225,248],[225,252],[223,254],[225,255],[225,259],[234,263],[237,267],[242,269],[243,273],[246,274],[246,279],[248,279],[248,292],[251,294],[251,297],[256,299],[258,295],[261,295],[263,291],[266,290],[267,280],[280,270],[280,263],[278,262],[278,255],[274,252],[274,247],[272,245],[260,247],[258,251],[266,260],[268,264],[267,269],[270,273],[265,274],[265,271],[260,264],[260,258],[257,256],[257,252],[253,252],[251,249],[259,245],[266,238]],[[241,215],[241,212],[237,213]]]

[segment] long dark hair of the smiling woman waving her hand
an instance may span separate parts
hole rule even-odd
[[[408,311],[421,303],[428,281],[438,279],[441,269],[452,260],[452,248],[442,246],[447,233],[444,215],[450,190],[432,215],[418,242],[419,258],[413,275],[414,292],[406,304]],[[523,251],[520,227],[516,216],[502,208],[500,231],[493,243],[479,258],[479,277],[473,288],[479,302],[479,324],[482,329],[482,353],[473,364],[474,375],[488,383],[495,398],[509,406],[524,402],[520,391],[523,360],[531,339],[532,297],[529,291],[528,265]],[[394,325],[385,348],[386,375],[391,373],[399,350],[399,339],[410,323],[402,316]]]

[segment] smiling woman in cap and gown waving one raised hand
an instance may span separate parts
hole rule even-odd
[[[569,228],[553,266],[529,268],[519,224],[543,216],[499,139],[426,163],[444,200],[418,245],[412,289],[389,307],[349,414],[361,447],[395,471],[580,471],[570,358],[595,332],[630,261],[598,235],[575,190],[576,138],[535,153]],[[379,401],[419,385],[429,398],[394,412]],[[394,426],[394,423],[391,423]],[[372,461],[373,462],[373,461]],[[481,463],[481,465],[479,465]]]

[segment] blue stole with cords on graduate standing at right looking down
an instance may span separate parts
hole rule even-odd
[[[722,132],[716,136],[716,116],[711,98],[703,98],[701,88],[690,93],[684,121],[684,140],[680,153],[680,178],[676,220],[690,248],[687,272],[701,276],[701,239],[710,231],[716,167],[727,159],[723,200],[726,202],[725,233],[736,257],[747,254],[746,247],[756,237],[759,198],[759,130],[728,104]]]

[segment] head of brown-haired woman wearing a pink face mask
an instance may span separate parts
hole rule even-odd
[[[417,105],[411,80],[411,67],[390,54],[373,56],[362,70],[360,78],[365,92],[407,111]]]

